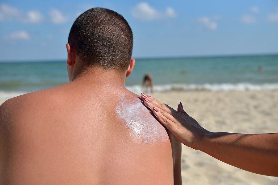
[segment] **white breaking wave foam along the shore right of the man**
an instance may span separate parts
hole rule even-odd
[[[141,93],[140,85],[126,86],[126,88],[136,94]],[[247,91],[247,90],[275,90],[278,89],[278,83],[214,83],[214,84],[166,84],[154,86],[154,92],[169,91]]]

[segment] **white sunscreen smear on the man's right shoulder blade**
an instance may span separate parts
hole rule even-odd
[[[131,130],[131,136],[143,143],[168,141],[165,128],[158,122],[138,98],[122,95],[115,111]]]

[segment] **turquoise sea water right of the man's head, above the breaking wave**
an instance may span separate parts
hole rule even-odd
[[[277,83],[278,55],[138,60],[127,85],[138,84],[147,72],[153,74],[155,84]]]

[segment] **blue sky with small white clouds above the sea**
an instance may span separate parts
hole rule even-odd
[[[65,59],[72,23],[96,6],[126,18],[134,58],[278,53],[277,0],[1,0],[0,61]]]

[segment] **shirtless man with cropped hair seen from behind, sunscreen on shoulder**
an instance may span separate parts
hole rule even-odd
[[[66,44],[70,82],[0,107],[0,184],[181,184],[180,142],[124,87],[132,48],[120,14],[79,15]]]

